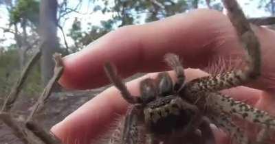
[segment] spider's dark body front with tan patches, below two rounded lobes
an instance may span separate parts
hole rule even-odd
[[[170,134],[182,130],[194,113],[182,108],[181,101],[179,97],[168,96],[149,103],[144,108],[146,128],[154,134]]]

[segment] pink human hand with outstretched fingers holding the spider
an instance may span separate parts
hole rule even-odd
[[[275,93],[275,33],[262,27],[253,29],[261,42],[262,76],[250,84],[251,88],[241,86],[229,93],[234,99],[275,115],[272,95]],[[168,52],[176,53],[184,67],[196,69],[186,70],[190,80],[206,75],[197,69],[206,67],[214,58],[241,58],[242,49],[226,16],[213,10],[195,10],[146,25],[122,27],[102,36],[86,49],[63,59],[65,71],[60,83],[77,89],[103,86],[109,83],[103,71],[104,62],[113,62],[122,77],[136,72],[164,71],[167,67],[163,56]],[[138,84],[144,77],[127,84],[133,95],[139,95]],[[90,143],[106,132],[118,115],[124,115],[127,106],[116,88],[108,88],[56,124],[52,132],[64,143]],[[217,143],[228,143],[228,136],[217,129],[214,133]]]

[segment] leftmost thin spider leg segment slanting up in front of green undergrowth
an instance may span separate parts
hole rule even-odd
[[[28,64],[25,66],[23,69],[21,76],[19,77],[19,80],[17,83],[14,84],[12,91],[10,91],[10,94],[8,97],[5,99],[3,107],[1,109],[1,112],[9,112],[10,109],[12,108],[14,102],[17,100],[19,96],[19,92],[22,90],[23,84],[28,77],[28,73],[30,72],[30,69],[34,66],[34,64],[39,60],[41,56],[41,49],[38,49],[35,53],[34,56],[30,59]]]

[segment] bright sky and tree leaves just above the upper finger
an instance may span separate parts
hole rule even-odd
[[[94,2],[96,1],[98,0],[94,0]],[[93,10],[94,12],[101,10],[102,14],[111,12],[113,14],[112,18],[108,21],[102,21],[99,26],[90,23],[87,31],[83,30],[81,22],[75,19],[67,36],[74,40],[75,47],[77,47],[75,50],[77,51],[100,36],[107,34],[115,27],[143,23],[142,21],[157,21],[192,9],[195,7],[194,5],[197,5],[197,2],[195,0],[157,0],[155,2],[148,0],[114,0],[114,5],[112,5],[110,1],[103,0],[104,5],[95,5]]]

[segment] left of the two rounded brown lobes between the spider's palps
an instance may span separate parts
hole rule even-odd
[[[155,100],[155,97],[157,96],[155,82],[150,78],[143,80],[140,83],[140,93],[142,94],[142,100],[146,103]]]

